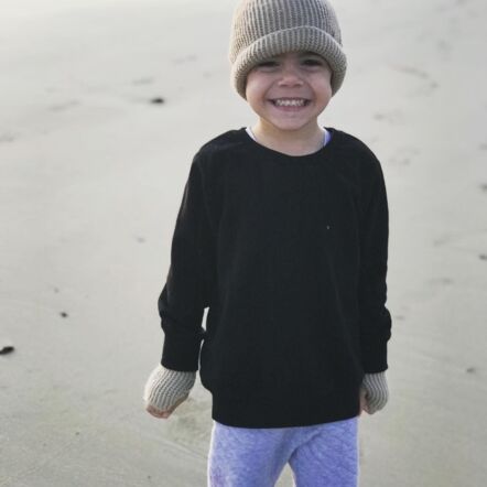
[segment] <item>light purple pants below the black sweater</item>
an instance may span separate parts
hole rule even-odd
[[[356,487],[358,416],[312,426],[248,429],[214,421],[209,487],[273,487],[289,463],[296,487]]]

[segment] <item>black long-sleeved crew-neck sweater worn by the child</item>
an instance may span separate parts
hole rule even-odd
[[[364,374],[388,367],[381,166],[358,139],[327,129],[331,142],[302,156],[232,130],[191,165],[159,299],[161,364],[199,365],[220,423],[353,418]]]

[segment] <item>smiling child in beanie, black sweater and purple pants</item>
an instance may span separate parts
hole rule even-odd
[[[374,153],[317,122],[346,73],[335,12],[245,0],[230,61],[257,121],[193,160],[147,410],[169,418],[199,366],[208,485],[272,486],[289,463],[297,486],[355,486],[357,419],[388,399],[388,206]]]

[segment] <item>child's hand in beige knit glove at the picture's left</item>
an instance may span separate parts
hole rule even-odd
[[[145,410],[155,418],[167,419],[187,399],[195,380],[196,372],[170,370],[158,365],[144,387]]]

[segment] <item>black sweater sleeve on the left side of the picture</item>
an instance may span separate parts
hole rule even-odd
[[[202,169],[196,155],[177,214],[166,283],[158,303],[165,335],[161,365],[167,369],[198,369],[205,333],[203,313],[210,295],[210,235]]]

